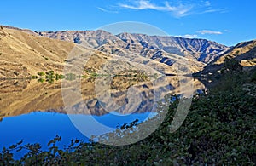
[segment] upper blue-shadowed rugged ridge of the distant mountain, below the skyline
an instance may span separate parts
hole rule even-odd
[[[114,36],[107,31],[45,31],[38,32],[44,37],[66,40],[74,43],[84,43],[87,46],[98,48],[106,43],[125,45],[132,52],[143,53],[165,51],[169,54],[177,54],[190,59],[208,63],[218,55],[230,49],[219,43],[205,39],[189,39],[183,37],[159,37],[144,34],[121,33]],[[120,42],[121,39],[124,43]],[[150,53],[149,53],[150,54]]]

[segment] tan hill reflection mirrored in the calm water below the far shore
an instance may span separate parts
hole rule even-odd
[[[71,81],[70,85],[62,86],[62,89],[73,89],[76,85]],[[153,82],[132,82],[129,78],[114,78],[109,84],[108,89],[96,89],[96,79],[86,78],[79,80],[80,97],[66,96],[68,105],[73,107],[72,111],[66,112],[63,103],[63,91],[61,91],[61,80],[55,83],[38,83],[37,80],[2,80],[0,81],[0,118],[13,117],[30,112],[61,112],[70,114],[90,114],[101,116],[108,112],[116,111],[119,113],[142,113],[150,112],[153,106],[156,93],[157,97],[163,98],[166,94],[193,93],[197,89],[204,89],[204,85],[193,77],[166,77],[165,81],[158,80]],[[183,86],[181,86],[183,83]],[[186,88],[188,85],[188,88]],[[191,85],[194,89],[191,89]],[[98,86],[99,87],[99,86]],[[129,96],[129,90],[135,89],[137,95]],[[102,95],[96,91],[108,94],[110,98],[102,98]],[[68,92],[68,91],[67,91]],[[105,95],[104,94],[104,95]],[[131,95],[131,94],[130,94]],[[128,98],[135,99],[128,99]],[[136,108],[124,108],[122,106],[136,105]],[[139,103],[138,103],[139,102]],[[104,106],[106,105],[106,106]],[[108,105],[108,106],[107,106]],[[118,107],[116,107],[116,106]],[[108,108],[106,110],[106,108]],[[120,108],[109,110],[109,108]],[[135,110],[136,109],[136,110]]]

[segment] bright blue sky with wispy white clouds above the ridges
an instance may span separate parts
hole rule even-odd
[[[133,21],[166,35],[206,38],[228,46],[256,39],[254,0],[9,0],[0,5],[0,25],[32,31],[96,30]],[[142,29],[125,31],[148,33]]]

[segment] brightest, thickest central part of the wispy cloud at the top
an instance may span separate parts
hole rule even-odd
[[[193,9],[193,5],[190,5],[190,4],[170,5],[170,3],[165,2],[162,5],[157,5],[155,3],[151,3],[148,0],[138,0],[130,4],[119,3],[119,7],[125,8],[125,9],[137,9],[137,10],[154,9],[158,11],[168,11],[168,12],[172,12],[172,14],[176,17],[183,17],[185,15],[188,15],[189,11]]]

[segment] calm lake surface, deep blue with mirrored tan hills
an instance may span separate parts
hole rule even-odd
[[[204,89],[203,84],[197,79],[188,77],[182,80],[177,77],[169,77],[165,83],[160,80],[158,83],[153,83],[154,86],[152,83],[132,83],[127,79],[114,81],[116,83],[111,85],[111,89],[108,91],[111,98],[103,99],[102,102],[97,100],[101,96],[95,94],[95,87],[92,86],[95,84],[94,80],[82,81],[80,93],[83,101],[75,100],[72,112],[65,112],[63,109],[61,83],[38,83],[37,80],[1,81],[0,149],[20,140],[24,140],[24,143],[38,142],[44,149],[55,135],[62,137],[60,146],[68,145],[70,140],[75,138],[87,141],[88,138],[75,128],[70,117],[83,122],[84,129],[88,133],[101,135],[106,130],[97,129],[91,123],[92,118],[113,130],[124,123],[136,119],[142,122],[148,117],[152,117],[154,115],[152,108],[156,104],[154,101],[159,91],[157,100],[170,93],[181,94],[191,90]],[[183,89],[180,88],[181,82]],[[194,89],[187,86],[188,83],[192,83]],[[131,87],[133,89],[127,92],[127,89]],[[137,97],[131,99],[129,93]],[[108,106],[108,103],[113,103],[113,105]],[[109,109],[116,108],[115,106],[119,107],[109,113]],[[80,112],[81,110],[82,112]],[[72,115],[67,115],[67,113]]]

